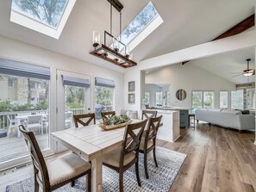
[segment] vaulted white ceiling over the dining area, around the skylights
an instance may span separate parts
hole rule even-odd
[[[122,28],[125,28],[148,2],[148,0],[121,0],[124,6]],[[255,4],[253,0],[153,0],[152,2],[164,23],[133,50],[134,60],[137,62],[212,40],[249,15],[253,15]],[[9,22],[10,7],[10,0],[1,1],[0,34],[3,36],[115,71],[124,71],[121,67],[90,54],[92,31],[95,29],[101,31],[102,37],[104,30],[109,31],[107,0],[77,0],[59,40]],[[113,24],[113,34],[117,36],[119,15],[116,11],[113,15]]]

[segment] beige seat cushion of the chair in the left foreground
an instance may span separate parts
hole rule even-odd
[[[48,161],[46,164],[51,186],[65,182],[72,177],[77,177],[91,169],[91,164],[73,153],[53,161]],[[38,177],[41,180],[40,173]]]

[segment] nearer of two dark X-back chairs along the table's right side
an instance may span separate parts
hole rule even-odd
[[[123,172],[135,164],[138,185],[141,187],[139,175],[139,146],[141,135],[147,120],[125,127],[122,146],[103,155],[103,165],[119,173],[119,191],[123,191]]]

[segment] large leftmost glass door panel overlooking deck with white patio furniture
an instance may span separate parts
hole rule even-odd
[[[50,148],[49,85],[49,80],[0,74],[0,170],[28,158],[19,125],[34,132],[41,151]]]

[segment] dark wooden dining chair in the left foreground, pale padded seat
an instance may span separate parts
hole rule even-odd
[[[91,191],[91,164],[72,153],[52,161],[43,158],[40,147],[33,132],[19,126],[23,138],[28,146],[34,167],[34,192],[41,187],[43,192],[53,191],[59,187],[72,183],[79,177],[87,175],[87,191]]]

